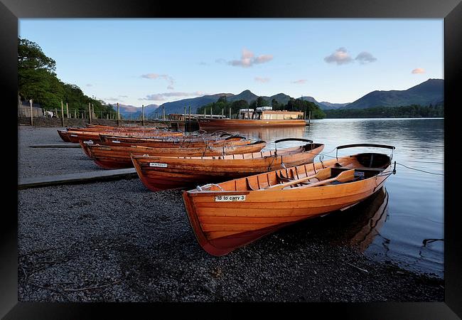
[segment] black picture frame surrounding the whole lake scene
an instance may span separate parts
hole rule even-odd
[[[181,8],[181,10],[180,10]],[[206,9],[205,9],[206,8]],[[147,311],[156,316],[159,307],[183,312],[194,308],[205,312],[210,304],[52,304],[18,302],[17,294],[17,122],[14,106],[17,103],[17,36],[18,18],[444,18],[444,96],[445,96],[445,172],[456,166],[456,121],[460,119],[456,103],[456,82],[462,71],[462,4],[460,0],[441,3],[434,0],[291,0],[291,1],[232,1],[231,3],[198,4],[197,2],[166,1],[70,1],[70,0],[1,0],[0,1],[0,84],[2,95],[4,132],[9,145],[4,148],[3,169],[7,178],[4,196],[8,207],[2,210],[1,265],[0,265],[0,316],[4,319],[76,319],[93,318],[95,312],[104,318],[117,315],[122,318],[132,312]],[[439,50],[436,48],[435,50]],[[449,130],[449,131],[447,131]],[[455,132],[453,134],[453,132]],[[16,139],[15,139],[16,137]],[[453,148],[451,148],[451,146]],[[7,151],[7,152],[6,152]],[[337,314],[351,319],[460,319],[462,316],[462,241],[458,232],[461,214],[456,206],[458,189],[456,174],[444,179],[444,302],[418,303],[352,303],[352,304],[290,304],[289,308],[306,316]],[[7,209],[6,209],[7,208]],[[152,307],[156,313],[153,313]],[[230,317],[240,311],[239,305],[214,304],[227,309],[220,317]],[[258,307],[258,306],[257,306]],[[258,309],[275,311],[274,304],[259,304]],[[254,306],[252,306],[252,309]],[[287,308],[284,308],[287,309]],[[149,316],[149,317],[151,317]],[[159,314],[160,316],[160,314]],[[210,314],[209,314],[210,316]],[[101,316],[98,316],[101,317]]]

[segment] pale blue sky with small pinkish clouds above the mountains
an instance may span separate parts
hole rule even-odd
[[[444,78],[443,19],[21,18],[56,73],[107,103],[250,90],[345,103]]]

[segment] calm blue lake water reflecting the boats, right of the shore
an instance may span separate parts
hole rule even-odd
[[[345,235],[356,245],[360,242],[368,257],[444,277],[444,119],[322,119],[311,120],[309,127],[239,132],[267,141],[266,149],[274,149],[276,139],[306,137],[325,144],[324,160],[335,157],[335,146],[342,144],[396,146],[392,161],[397,161],[397,174],[387,179],[380,195],[348,209],[355,211],[352,217],[359,210],[364,219],[349,221],[343,215],[342,223],[358,224],[355,233],[345,231]],[[278,149],[300,143],[281,142]],[[391,153],[390,149],[352,148],[340,149],[338,155],[368,150]]]

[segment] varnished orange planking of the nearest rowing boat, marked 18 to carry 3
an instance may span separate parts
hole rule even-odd
[[[334,166],[337,162],[341,167],[360,169],[364,167],[364,155],[333,159],[311,166],[305,164],[279,170],[277,174],[298,179],[310,176],[323,167]],[[360,156],[363,164],[360,163]],[[391,169],[390,158],[387,159],[387,163],[382,166],[385,171]],[[249,189],[248,186],[252,183],[262,188],[278,183],[276,171],[272,171],[219,183],[218,186],[225,191],[220,191],[218,186],[207,187],[205,191],[185,191],[183,199],[200,245],[213,255],[223,255],[281,228],[282,225],[358,203],[379,190],[386,178],[387,176],[372,176],[363,180],[312,188],[271,191]],[[230,194],[245,194],[245,201],[215,201],[215,196]]]

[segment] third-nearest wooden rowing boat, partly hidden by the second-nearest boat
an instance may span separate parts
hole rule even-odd
[[[148,146],[118,146],[106,144],[86,144],[90,158],[104,169],[133,167],[130,154],[150,156],[220,156],[222,154],[246,154],[261,151],[266,142],[257,141],[243,145],[203,146],[195,148],[152,148]],[[81,144],[82,146],[82,144]]]

